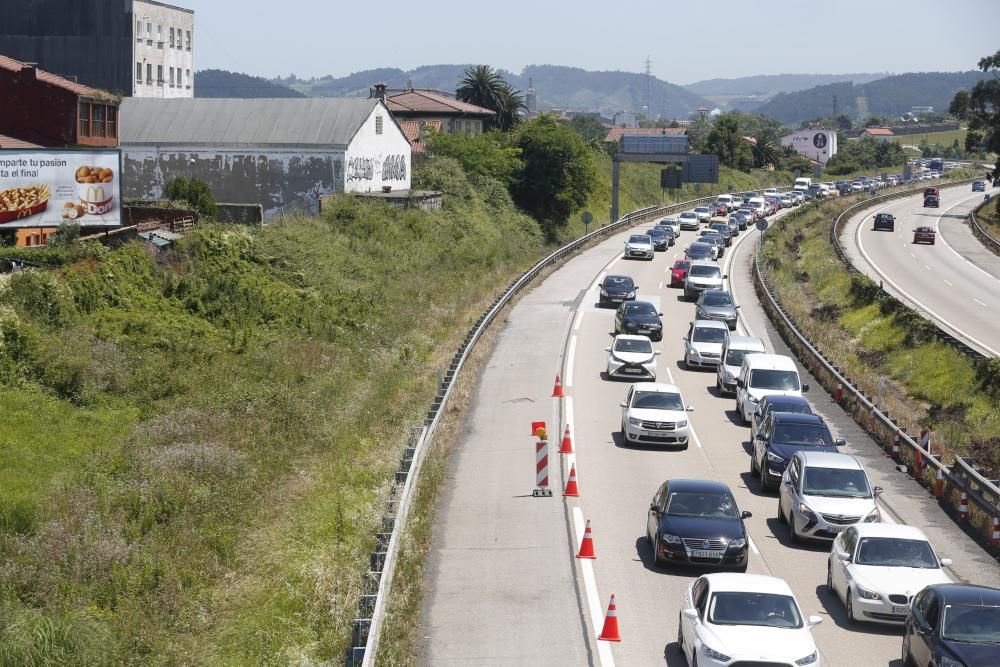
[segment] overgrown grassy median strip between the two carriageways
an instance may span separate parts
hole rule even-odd
[[[988,382],[990,362],[977,365],[938,342],[929,322],[847,271],[831,244],[830,220],[848,203],[802,209],[768,231],[762,266],[778,297],[869,395],[879,378],[889,381],[887,408],[908,429],[927,426],[946,447],[1000,470],[1000,396]]]

